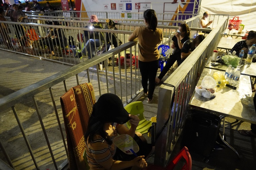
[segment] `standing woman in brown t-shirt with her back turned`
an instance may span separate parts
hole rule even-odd
[[[148,9],[144,11],[143,17],[146,27],[139,27],[135,29],[129,36],[128,40],[133,41],[138,38],[138,62],[142,79],[141,84],[144,94],[148,96],[147,103],[151,103],[153,100],[155,78],[157,75],[160,58],[160,53],[157,46],[163,40],[163,31],[157,28],[157,16],[154,10]]]

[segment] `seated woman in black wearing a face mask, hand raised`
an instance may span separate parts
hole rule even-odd
[[[172,38],[173,43],[171,45],[171,48],[174,48],[175,51],[172,55],[170,55],[165,67],[161,71],[160,75],[155,79],[156,85],[163,83],[163,81],[161,81],[162,78],[165,76],[165,74],[168,72],[168,70],[172,67],[172,65],[175,63],[175,61],[177,61],[178,66],[181,65],[181,63],[182,63],[182,59],[181,59],[182,45],[188,39],[190,39],[190,28],[187,24],[181,24],[179,26],[179,29],[175,33],[175,36]]]

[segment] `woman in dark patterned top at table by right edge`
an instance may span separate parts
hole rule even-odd
[[[248,50],[252,46],[252,44],[256,44],[256,32],[255,31],[250,31],[248,33],[246,40],[237,42],[234,45],[234,47],[230,50],[230,53],[235,51],[236,55],[238,55],[241,52],[241,50],[244,50],[244,54],[246,54],[246,55],[244,55],[244,57],[246,58]]]

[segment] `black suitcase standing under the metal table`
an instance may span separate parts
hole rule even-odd
[[[220,128],[220,117],[209,112],[191,109],[187,112],[181,146],[190,152],[210,156]]]

